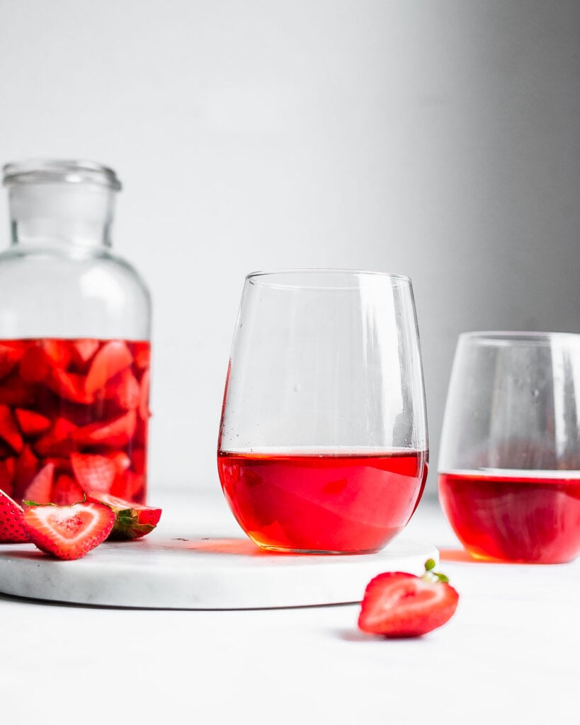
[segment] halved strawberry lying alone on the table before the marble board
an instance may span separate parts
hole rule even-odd
[[[402,571],[379,574],[365,591],[358,626],[385,637],[421,637],[452,618],[459,595],[447,576],[435,573],[433,559],[425,563],[425,574]]]

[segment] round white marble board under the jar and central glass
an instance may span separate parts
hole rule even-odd
[[[254,609],[359,602],[383,571],[421,573],[439,552],[397,539],[371,555],[286,555],[246,538],[154,531],[101,544],[60,561],[33,544],[0,545],[0,592],[83,605],[162,609]]]

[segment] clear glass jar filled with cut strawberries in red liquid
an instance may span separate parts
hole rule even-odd
[[[4,166],[12,244],[0,253],[0,489],[60,505],[88,490],[146,500],[151,302],[110,251],[111,169]]]

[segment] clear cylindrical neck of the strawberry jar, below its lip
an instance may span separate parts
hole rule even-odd
[[[9,188],[12,244],[110,247],[115,191],[94,183],[17,183]]]

